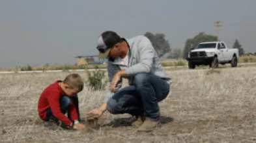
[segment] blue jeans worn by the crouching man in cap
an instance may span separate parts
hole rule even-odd
[[[169,94],[170,85],[153,74],[135,75],[134,85],[124,87],[107,101],[107,109],[112,114],[129,113],[145,115],[150,120],[160,119],[158,102]]]

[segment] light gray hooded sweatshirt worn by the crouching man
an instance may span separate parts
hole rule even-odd
[[[136,36],[134,38],[127,39],[126,41],[129,45],[128,66],[109,60],[107,65],[109,83],[111,83],[115,73],[122,69],[126,70],[130,85],[134,84],[134,76],[139,73],[154,74],[166,80],[167,83],[171,83],[171,78],[164,71],[158,54],[156,54],[156,50],[154,50],[152,43],[147,37]],[[122,80],[117,84],[117,91],[121,89],[121,86]],[[113,94],[114,93],[111,93],[109,90],[104,98],[104,102],[107,102]]]

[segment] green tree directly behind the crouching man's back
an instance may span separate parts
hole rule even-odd
[[[146,32],[144,36],[149,38],[159,57],[162,57],[165,53],[171,50],[169,41],[165,39],[164,34],[152,34],[151,32]]]

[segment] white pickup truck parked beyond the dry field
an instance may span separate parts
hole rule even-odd
[[[231,67],[236,67],[239,54],[238,49],[228,49],[223,41],[199,43],[195,49],[188,52],[186,60],[188,67],[195,69],[195,65],[209,65],[218,68],[219,63],[231,63]]]

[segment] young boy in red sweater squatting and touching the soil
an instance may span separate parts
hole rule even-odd
[[[83,80],[79,74],[69,74],[61,81],[49,85],[38,101],[38,114],[42,120],[60,120],[74,129],[85,129],[79,123],[78,93],[83,90]],[[68,116],[64,114],[68,112]]]

